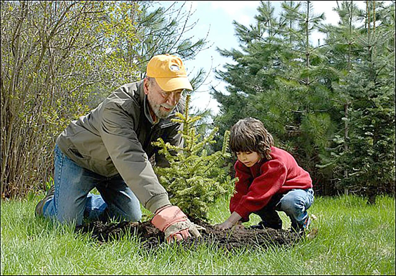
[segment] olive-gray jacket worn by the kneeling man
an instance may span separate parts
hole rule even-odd
[[[154,124],[143,90],[143,80],[125,84],[99,106],[69,126],[57,137],[62,152],[83,168],[110,177],[120,174],[141,204],[151,212],[169,203],[149,158],[158,151],[151,145],[158,137],[183,147],[178,134],[183,124],[171,122],[175,112],[184,112],[182,97],[171,115]],[[158,166],[169,163],[155,154]]]

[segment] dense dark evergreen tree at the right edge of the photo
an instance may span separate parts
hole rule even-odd
[[[343,2],[343,8],[348,6],[353,7]],[[337,186],[363,191],[368,204],[375,204],[380,192],[394,193],[395,181],[394,21],[386,20],[387,13],[394,15],[394,5],[381,7],[377,15],[385,20],[377,27],[375,11],[375,2],[367,2],[364,26],[344,34],[354,43],[352,51],[344,48],[350,62],[340,66],[333,88],[343,103],[345,130],[335,136],[338,147],[324,165],[333,167]]]

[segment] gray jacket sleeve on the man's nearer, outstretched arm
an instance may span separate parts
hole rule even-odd
[[[103,109],[99,133],[117,171],[151,212],[170,204],[133,128],[133,118],[117,103]]]

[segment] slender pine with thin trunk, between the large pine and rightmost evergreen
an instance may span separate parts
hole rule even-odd
[[[356,64],[360,57],[360,47],[355,42],[356,36],[358,35],[358,29],[354,26],[356,20],[360,17],[361,11],[358,9],[353,1],[343,1],[341,6],[337,3],[337,8],[334,9],[339,17],[340,21],[337,26],[326,25],[322,28],[322,32],[327,34],[326,38],[326,51],[328,59],[328,68],[334,72],[331,80],[329,81],[329,100],[334,103],[334,111],[331,114],[332,119],[335,122],[339,122],[339,128],[335,132],[333,141],[335,142],[333,148],[331,146],[327,148],[330,155],[322,155],[321,163],[329,164],[330,166],[317,165],[318,168],[324,170],[334,169],[335,162],[330,164],[330,160],[334,160],[334,152],[348,151],[349,141],[348,132],[349,126],[349,109],[352,103],[351,93],[345,83],[345,77],[348,78],[352,68]],[[343,127],[342,127],[343,125]],[[332,155],[333,154],[333,155]],[[340,181],[341,179],[348,178],[349,170],[348,166],[343,166],[340,172],[338,168],[335,172],[336,187],[344,189],[345,194],[349,192],[349,185],[345,182]],[[343,177],[339,178],[339,173],[343,174]]]

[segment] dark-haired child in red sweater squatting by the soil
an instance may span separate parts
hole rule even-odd
[[[230,132],[230,148],[238,157],[234,169],[239,180],[230,200],[231,215],[216,227],[224,230],[240,225],[255,213],[261,222],[252,228],[281,229],[282,220],[276,211],[284,211],[292,230],[306,230],[310,223],[307,209],[314,200],[309,173],[291,154],[274,147],[272,135],[259,120],[239,120]]]

